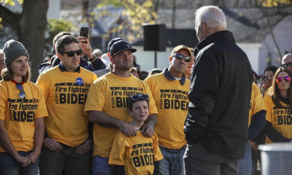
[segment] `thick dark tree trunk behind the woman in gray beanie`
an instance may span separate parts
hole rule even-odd
[[[47,27],[48,0],[24,0],[19,20],[19,41],[28,51],[31,62],[31,81],[36,82],[38,67],[43,60],[44,31]]]

